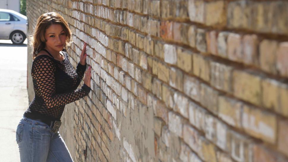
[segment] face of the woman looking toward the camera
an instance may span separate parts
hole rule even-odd
[[[48,50],[61,51],[66,42],[66,33],[60,24],[52,24],[45,31],[46,47]]]

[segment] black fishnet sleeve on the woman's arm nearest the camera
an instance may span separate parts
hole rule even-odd
[[[38,60],[34,60],[32,69],[33,77],[36,80],[38,89],[48,108],[74,102],[88,95],[90,91],[87,85],[83,85],[82,88],[75,91],[56,94],[54,76],[56,67],[53,61],[48,57],[41,57]]]

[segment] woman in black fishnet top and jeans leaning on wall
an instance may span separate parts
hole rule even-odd
[[[66,104],[90,92],[91,67],[76,90],[86,70],[86,43],[76,70],[65,50],[70,43],[71,31],[61,15],[51,12],[38,18],[31,36],[35,97],[16,129],[21,162],[73,161],[58,132],[60,118]]]

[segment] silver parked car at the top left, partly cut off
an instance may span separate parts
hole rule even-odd
[[[27,34],[27,17],[13,10],[0,9],[0,39],[22,44]]]

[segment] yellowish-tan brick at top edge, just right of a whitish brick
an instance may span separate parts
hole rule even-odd
[[[208,26],[226,25],[226,10],[223,0],[205,3],[205,24]]]

